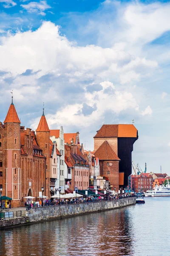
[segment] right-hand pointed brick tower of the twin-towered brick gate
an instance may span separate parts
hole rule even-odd
[[[46,157],[45,159],[45,180],[43,180],[43,186],[45,189],[46,196],[49,196],[50,188],[48,187],[50,184],[50,130],[48,128],[48,124],[43,113],[36,130],[37,143],[39,147],[42,149],[42,154]]]

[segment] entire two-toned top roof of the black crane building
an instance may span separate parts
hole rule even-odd
[[[138,130],[134,125],[102,125],[94,138],[136,138]]]

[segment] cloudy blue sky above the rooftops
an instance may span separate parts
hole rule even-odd
[[[170,174],[170,2],[0,0],[0,121],[13,90],[21,125],[139,131],[133,161]]]

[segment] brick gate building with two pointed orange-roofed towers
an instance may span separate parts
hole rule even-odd
[[[4,124],[0,122],[0,187],[12,198],[11,206],[24,205],[24,197],[48,193],[50,182],[50,136],[44,110],[37,134],[20,126],[13,100]]]

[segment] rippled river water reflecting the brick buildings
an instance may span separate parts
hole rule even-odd
[[[0,256],[170,256],[170,197],[0,231]]]

